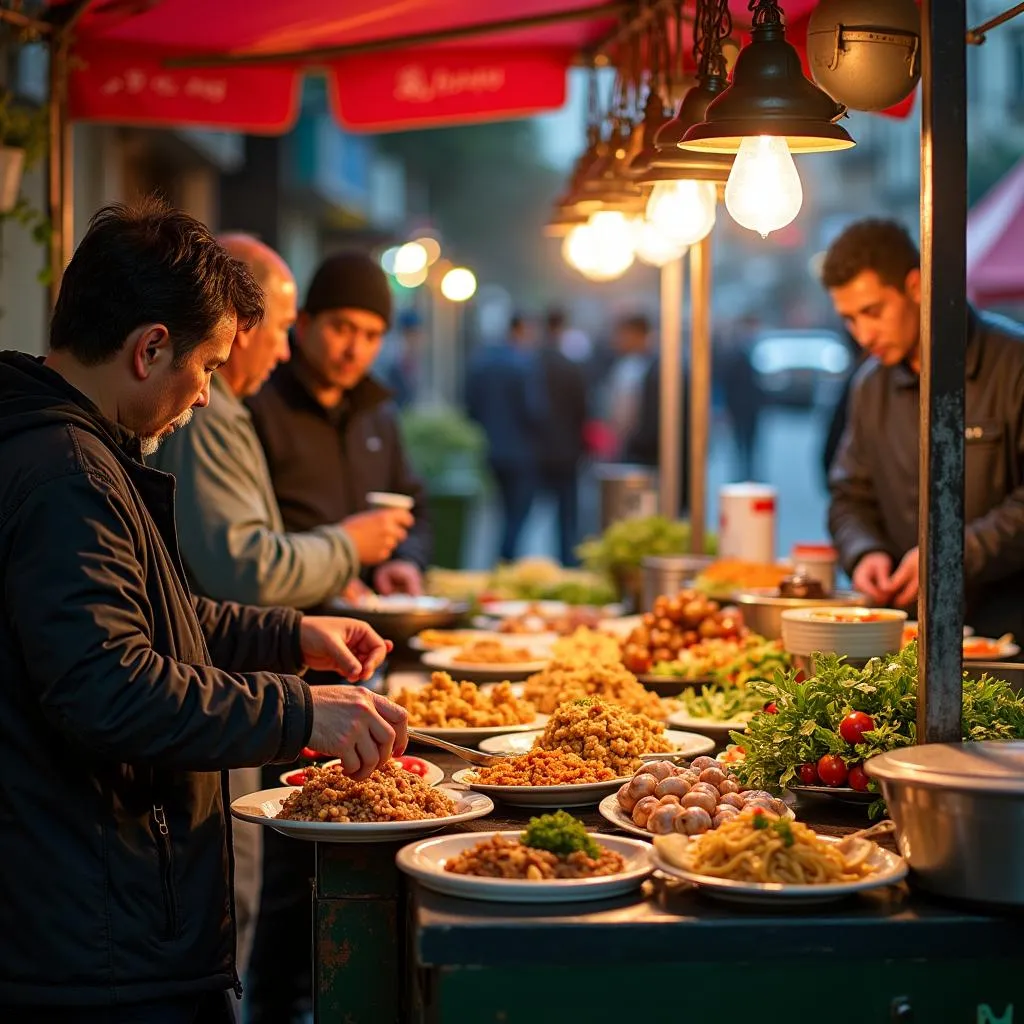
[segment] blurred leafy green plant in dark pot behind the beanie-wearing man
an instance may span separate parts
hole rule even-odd
[[[408,410],[400,422],[409,460],[430,496],[434,564],[461,568],[469,513],[486,489],[486,438],[449,406]]]

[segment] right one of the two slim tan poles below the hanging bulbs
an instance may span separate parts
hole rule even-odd
[[[711,236],[690,246],[690,550],[701,555],[708,526],[711,430]]]

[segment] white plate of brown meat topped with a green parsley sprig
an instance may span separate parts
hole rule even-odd
[[[597,836],[565,811],[530,818],[521,833],[467,833],[402,847],[400,870],[426,889],[502,903],[607,899],[640,888],[650,847]]]

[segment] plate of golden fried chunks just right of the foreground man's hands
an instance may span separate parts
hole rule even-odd
[[[399,689],[391,699],[409,713],[411,729],[463,745],[548,723],[548,716],[518,695],[514,684],[478,686],[456,682],[446,672],[433,673],[426,685]]]

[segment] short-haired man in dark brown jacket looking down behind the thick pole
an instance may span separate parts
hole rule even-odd
[[[822,281],[869,358],[850,394],[829,473],[828,524],[854,586],[912,608],[918,598],[921,269],[899,224],[864,220],[826,254]],[[1024,330],[969,312],[967,618],[990,636],[1024,633]]]

